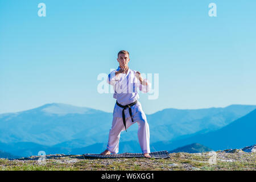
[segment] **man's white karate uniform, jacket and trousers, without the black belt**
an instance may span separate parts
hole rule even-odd
[[[124,111],[126,129],[137,122],[139,126],[138,138],[141,150],[143,154],[150,153],[150,130],[146,115],[142,110],[141,102],[138,101],[139,94],[137,89],[139,88],[139,90],[141,90],[143,93],[147,93],[151,89],[151,83],[146,78],[144,78],[143,80],[147,82],[147,85],[142,85],[138,78],[135,77],[136,71],[133,71],[130,68],[128,69],[127,74],[119,73],[117,76],[115,76],[115,72],[119,71],[119,69],[120,67],[109,74],[107,82],[110,85],[113,85],[113,97],[119,104],[125,106],[137,101],[135,105],[131,106],[131,113],[134,122],[131,121],[129,109],[127,108]],[[108,151],[110,151],[112,154],[118,153],[120,134],[121,131],[125,130],[122,118],[122,110],[122,107],[115,104],[112,127],[109,131],[109,140],[107,146]]]

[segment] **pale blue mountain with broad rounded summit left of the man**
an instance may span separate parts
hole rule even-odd
[[[52,146],[77,138],[84,145],[99,142],[91,135],[107,133],[112,113],[67,104],[46,104],[18,113],[0,114],[0,142],[32,142]]]

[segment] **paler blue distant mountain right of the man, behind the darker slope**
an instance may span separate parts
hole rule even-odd
[[[152,142],[158,142],[175,140],[200,131],[208,133],[229,125],[254,109],[256,109],[254,105],[230,105],[208,109],[164,109],[147,115],[150,138]],[[136,132],[135,130],[134,134]]]

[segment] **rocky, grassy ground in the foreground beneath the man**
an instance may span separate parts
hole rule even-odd
[[[31,156],[0,159],[0,170],[256,170],[256,145],[235,150],[196,154],[172,153],[168,159],[84,159],[82,155]]]

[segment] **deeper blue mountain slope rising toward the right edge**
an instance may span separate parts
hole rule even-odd
[[[197,134],[180,140],[156,142],[152,145],[158,150],[164,150],[165,148],[173,150],[189,143],[201,143],[215,151],[224,150],[225,148],[241,148],[256,143],[255,131],[256,109],[217,131]]]

